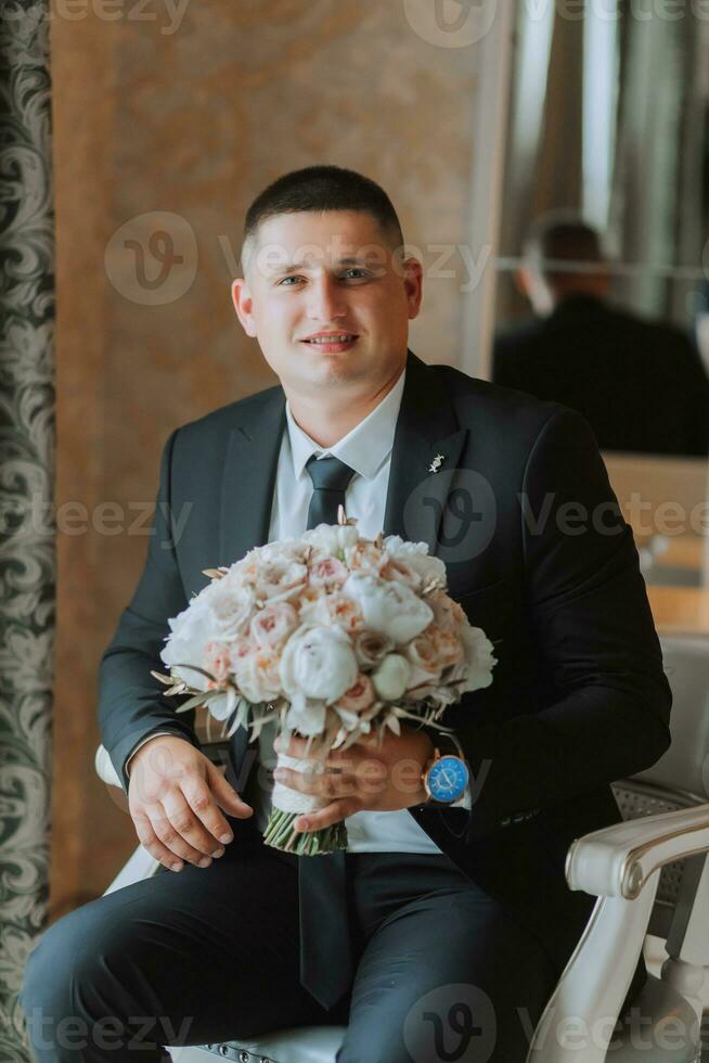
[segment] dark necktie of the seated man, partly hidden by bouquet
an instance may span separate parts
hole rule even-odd
[[[338,458],[314,454],[306,468],[314,487],[308,528],[337,524],[337,507],[345,504],[354,470]],[[298,858],[300,983],[326,1009],[349,989],[353,975],[345,882],[343,849]]]

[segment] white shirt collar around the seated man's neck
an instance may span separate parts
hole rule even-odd
[[[285,415],[295,476],[302,475],[308,459],[311,454],[317,453],[318,457],[333,454],[349,465],[350,469],[353,469],[356,473],[359,473],[360,476],[371,479],[391,453],[405,375],[404,367],[399,380],[378,406],[375,406],[363,421],[356,424],[346,436],[333,444],[332,447],[321,447],[296,424],[291,412],[291,404],[286,400]]]

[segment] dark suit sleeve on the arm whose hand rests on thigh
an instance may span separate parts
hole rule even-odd
[[[168,619],[186,607],[172,538],[170,469],[176,430],[160,462],[159,488],[147,555],[136,592],[124,610],[99,668],[101,740],[128,793],[126,761],[142,741],[167,732],[197,748],[194,710],[177,714],[165,688],[151,670],[165,671],[159,652],[169,632]]]

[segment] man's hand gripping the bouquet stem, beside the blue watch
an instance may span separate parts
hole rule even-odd
[[[276,753],[305,758],[306,739],[291,739],[284,748],[281,735]],[[382,745],[376,738],[363,739],[348,750],[336,750],[324,757],[313,742],[309,760],[324,763],[325,771],[310,774],[292,768],[276,768],[273,778],[284,786],[331,798],[326,808],[300,816],[296,831],[318,831],[361,811],[390,812],[426,801],[422,772],[434,755],[434,743],[422,730],[403,727],[401,734],[386,732]]]

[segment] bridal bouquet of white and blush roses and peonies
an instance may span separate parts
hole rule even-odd
[[[206,705],[231,718],[228,734],[249,727],[253,738],[276,720],[285,744],[295,733],[328,752],[399,734],[401,720],[446,730],[444,709],[490,684],[492,645],[446,593],[446,566],[427,545],[364,539],[341,507],[338,520],[205,569],[211,581],[169,620],[169,676],[153,673],[167,695],[191,695],[177,712]],[[284,754],[278,763],[312,767]],[[276,782],[265,841],[301,855],[346,848],[341,822],[293,831],[326,803]]]

